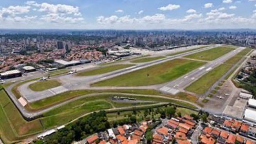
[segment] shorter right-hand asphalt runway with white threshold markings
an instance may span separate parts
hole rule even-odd
[[[243,49],[244,48],[242,48],[242,47],[237,48],[236,50],[233,50],[233,51],[219,57],[216,60],[208,62],[207,64],[203,65],[202,67],[166,84],[165,86],[160,88],[160,91],[165,92],[165,93],[170,93],[170,94],[177,94],[178,92],[183,91],[183,89],[186,88],[189,84],[195,82],[201,76],[203,76],[207,72],[211,71],[212,69],[216,68],[218,65],[220,65],[221,63],[230,59],[231,57],[235,56],[237,53],[239,53]]]

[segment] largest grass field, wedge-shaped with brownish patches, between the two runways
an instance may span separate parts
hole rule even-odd
[[[145,86],[172,81],[205,64],[201,61],[174,59],[151,67],[100,81],[91,86]]]

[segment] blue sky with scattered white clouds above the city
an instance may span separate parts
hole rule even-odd
[[[256,28],[256,0],[1,0],[0,28]]]

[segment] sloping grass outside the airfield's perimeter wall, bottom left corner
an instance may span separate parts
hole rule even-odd
[[[39,120],[25,121],[3,90],[0,91],[0,119],[1,137],[7,143],[43,130]]]

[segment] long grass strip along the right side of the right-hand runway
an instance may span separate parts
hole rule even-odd
[[[220,64],[210,72],[200,77],[197,81],[185,88],[186,91],[196,94],[205,93],[216,81],[228,72],[240,59],[242,59],[251,49],[244,49],[234,57]]]

